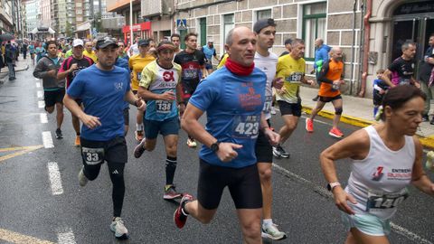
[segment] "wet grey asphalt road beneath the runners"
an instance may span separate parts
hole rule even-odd
[[[227,191],[211,224],[190,218],[183,230],[176,229],[173,213],[177,203],[163,200],[163,140],[158,138],[154,152],[140,159],[132,156],[136,145],[133,108],[122,214],[130,239],[115,239],[109,230],[112,203],[107,167],[102,167],[97,180],[80,188],[80,150],[73,146],[71,114],[65,109],[64,138],[55,139],[55,115],[48,115],[48,123],[42,123],[44,110],[38,107],[42,88],[36,86],[42,82],[33,78],[32,71],[31,66],[18,72],[17,80],[0,86],[0,243],[241,243]],[[276,243],[344,242],[340,213],[325,190],[318,162],[319,153],[336,139],[327,135],[331,121],[318,119],[314,134],[306,133],[304,118],[300,119],[286,145],[291,157],[274,162],[273,219],[288,234],[288,239]],[[273,127],[282,126],[279,116],[271,121]],[[345,135],[356,129],[342,125]],[[52,146],[49,139],[42,139],[43,133],[52,138]],[[181,131],[175,183],[178,191],[196,195],[199,149],[188,148],[185,141]],[[342,183],[348,178],[348,162],[337,163]],[[434,180],[434,174],[429,177]],[[434,243],[433,203],[433,198],[410,187],[410,198],[392,219],[392,243]]]

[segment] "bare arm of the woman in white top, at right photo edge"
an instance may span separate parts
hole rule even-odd
[[[425,192],[431,196],[434,196],[434,183],[432,183],[427,174],[423,171],[422,167],[422,145],[418,138],[414,138],[414,146],[416,150],[416,159],[414,160],[413,170],[411,174],[411,183],[416,186],[420,192]]]

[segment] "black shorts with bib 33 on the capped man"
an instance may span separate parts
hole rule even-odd
[[[109,141],[91,141],[81,137],[80,141],[83,164],[96,165],[104,161],[127,163],[127,143],[124,136],[117,136]]]

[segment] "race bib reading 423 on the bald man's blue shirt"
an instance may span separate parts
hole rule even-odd
[[[258,137],[260,116],[236,116],[232,124],[232,136],[237,138]]]

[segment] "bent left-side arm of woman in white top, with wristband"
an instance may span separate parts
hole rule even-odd
[[[354,132],[351,136],[348,136],[326,148],[319,156],[319,160],[327,183],[339,182],[335,170],[336,160],[342,158],[363,159],[366,157],[367,152],[369,152],[369,146],[369,136],[366,131],[360,129]],[[348,214],[354,214],[354,211],[347,203],[347,201],[354,204],[357,203],[352,195],[345,192],[341,186],[335,186],[333,189],[333,196],[335,199],[335,205],[339,210]]]

